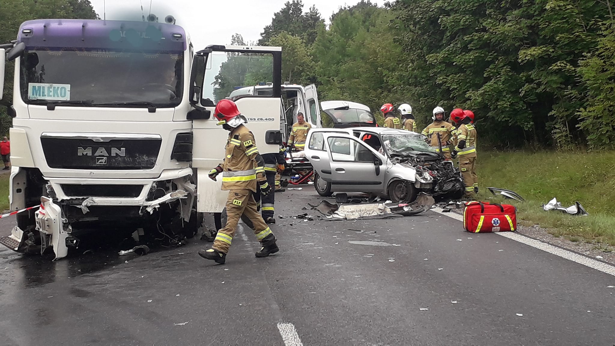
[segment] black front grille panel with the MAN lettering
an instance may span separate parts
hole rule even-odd
[[[89,138],[41,136],[47,165],[71,170],[149,170],[156,165],[161,143],[159,138],[101,142]]]

